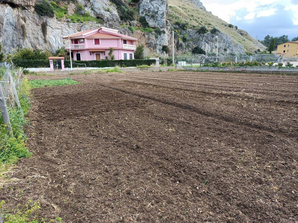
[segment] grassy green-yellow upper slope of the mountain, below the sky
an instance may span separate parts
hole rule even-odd
[[[199,30],[201,26],[205,26],[208,30],[216,28],[220,32],[230,35],[235,43],[243,45],[245,51],[254,52],[259,49],[255,44],[257,40],[247,32],[199,8],[190,0],[185,0],[182,6],[179,0],[169,0],[169,9],[170,22],[173,24],[181,23],[183,29]],[[181,21],[181,18],[183,18],[183,21]]]

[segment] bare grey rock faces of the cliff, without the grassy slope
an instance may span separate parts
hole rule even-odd
[[[60,0],[56,1],[57,14],[53,17],[38,15],[35,10],[36,1],[0,0],[0,42],[4,53],[11,53],[17,47],[40,48],[55,53],[64,45],[62,36],[100,26],[118,29],[122,34],[134,36],[138,38],[137,44],[145,44],[160,53],[162,46],[171,45],[171,27],[177,29],[175,22],[169,16],[171,7],[169,8],[168,0]],[[73,21],[67,16],[77,13],[78,4],[83,6],[80,8],[80,13],[94,18],[94,21]],[[197,7],[196,10],[205,10],[200,1],[193,0],[193,4]],[[127,7],[126,10],[131,10],[134,15],[129,19],[123,19],[121,7]],[[66,10],[65,16],[58,14],[62,9]],[[142,27],[140,17],[146,19],[148,27]],[[177,51],[191,51],[198,45],[207,52],[215,48],[214,35],[211,33],[198,35],[194,27],[183,29],[181,32],[187,34],[189,38],[181,42],[175,37]],[[221,31],[217,35],[220,36],[221,48],[226,48],[228,52],[247,50],[229,33]],[[254,50],[262,47],[254,44]]]

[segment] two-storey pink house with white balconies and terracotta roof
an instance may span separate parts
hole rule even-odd
[[[108,56],[110,47],[114,49],[115,60],[134,59],[137,40],[105,27],[77,32],[63,39],[67,40],[65,49],[69,50],[70,46],[74,60],[103,60]]]

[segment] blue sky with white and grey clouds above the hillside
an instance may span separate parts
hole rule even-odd
[[[207,11],[263,40],[298,36],[298,0],[201,0]]]

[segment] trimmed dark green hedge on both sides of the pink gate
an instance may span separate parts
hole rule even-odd
[[[25,60],[25,59],[16,59],[13,60],[13,63],[17,67],[31,68],[31,67],[50,67],[49,60]],[[83,65],[79,65],[79,64]],[[138,65],[151,65],[155,64],[156,60],[81,60],[73,61],[72,67],[115,67],[116,65],[120,67],[136,67]],[[64,60],[64,66],[70,67],[70,60]]]

